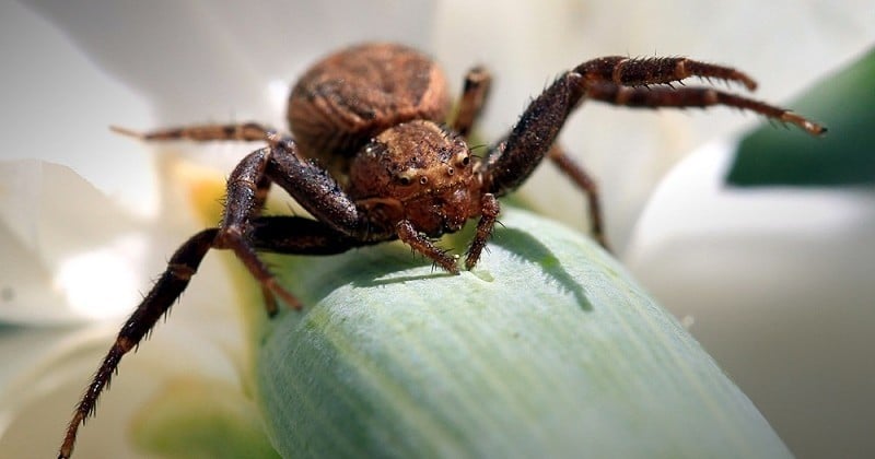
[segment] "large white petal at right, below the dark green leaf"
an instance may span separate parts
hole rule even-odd
[[[627,263],[810,457],[872,451],[875,193],[725,188],[734,145],[680,163],[642,214]],[[853,454],[851,454],[853,456]],[[862,456],[866,456],[863,454]]]

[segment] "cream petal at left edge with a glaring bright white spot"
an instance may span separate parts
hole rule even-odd
[[[0,162],[0,320],[112,317],[138,299],[136,220],[66,166]]]

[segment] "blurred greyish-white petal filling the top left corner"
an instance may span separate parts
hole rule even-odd
[[[0,160],[65,164],[128,212],[154,215],[152,155],[108,129],[145,123],[149,108],[142,97],[97,67],[57,26],[16,2],[0,4],[0,56],[5,69],[0,72]]]

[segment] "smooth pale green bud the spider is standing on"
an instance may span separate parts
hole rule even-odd
[[[277,267],[308,305],[257,351],[281,455],[790,456],[612,258],[540,216],[501,221],[458,276],[397,244]]]

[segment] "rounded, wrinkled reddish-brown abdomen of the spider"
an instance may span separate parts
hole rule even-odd
[[[443,121],[450,95],[428,56],[394,44],[364,44],[316,62],[289,95],[289,123],[304,154],[348,169],[371,138],[413,119]]]

